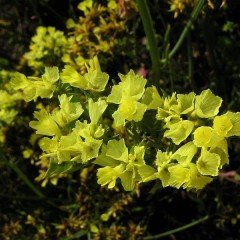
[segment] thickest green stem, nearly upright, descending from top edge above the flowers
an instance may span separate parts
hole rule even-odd
[[[160,78],[160,56],[155,37],[153,21],[146,0],[136,0],[143,22],[144,32],[147,37],[150,57],[152,61],[153,80],[157,83]]]

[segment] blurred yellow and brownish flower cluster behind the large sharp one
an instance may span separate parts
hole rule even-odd
[[[137,11],[134,2],[108,0],[104,4],[85,0],[80,2],[78,9],[84,15],[77,22],[68,19],[66,34],[54,27],[38,27],[22,65],[29,66],[36,75],[45,66],[62,67],[64,64],[84,74],[85,64],[94,56],[106,59],[106,56],[123,54],[123,49],[129,46],[126,23]]]

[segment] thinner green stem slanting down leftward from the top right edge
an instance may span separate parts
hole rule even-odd
[[[199,14],[201,13],[201,10],[204,6],[206,0],[199,0],[197,5],[195,6],[195,8],[193,9],[190,19],[188,20],[186,26],[184,27],[176,45],[174,46],[174,48],[172,49],[172,51],[169,53],[168,55],[168,59],[171,59],[176,53],[177,51],[180,49],[180,47],[182,46],[185,38],[188,35],[188,32],[191,28],[191,26],[193,25],[193,23],[195,22],[195,20],[198,18]],[[165,59],[166,61],[166,59]]]

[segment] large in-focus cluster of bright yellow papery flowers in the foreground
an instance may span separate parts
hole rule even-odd
[[[160,180],[163,187],[199,190],[229,163],[227,139],[240,136],[240,112],[219,115],[222,99],[210,90],[163,97],[131,70],[119,74],[121,81],[106,93],[109,76],[97,58],[87,69],[82,75],[72,66],[60,73],[52,67],[41,78],[17,74],[12,80],[27,101],[61,93],[59,107],[41,108],[30,122],[45,136],[40,147],[42,157],[50,160],[46,176],[94,163],[101,166],[98,183],[108,188],[120,180],[131,191],[141,182]],[[146,121],[147,114],[155,124]],[[145,125],[159,136],[152,139],[156,152],[151,159],[145,154],[150,146]],[[124,129],[125,135],[115,136],[116,128]]]

